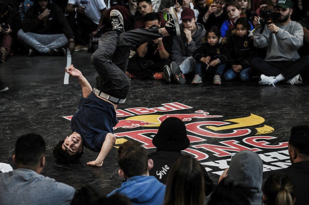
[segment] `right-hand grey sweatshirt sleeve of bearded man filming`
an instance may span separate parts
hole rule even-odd
[[[279,28],[276,36],[295,50],[303,45],[304,31],[299,23],[294,25],[291,33]]]

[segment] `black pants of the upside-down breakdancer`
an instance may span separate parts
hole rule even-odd
[[[125,99],[131,89],[130,80],[125,74],[130,48],[158,38],[162,38],[158,27],[124,33],[110,31],[102,35],[99,48],[91,56],[92,64],[99,74],[96,88],[110,96]]]

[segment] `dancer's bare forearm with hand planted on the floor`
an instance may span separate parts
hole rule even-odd
[[[111,151],[115,142],[116,142],[116,136],[113,135],[112,133],[108,133],[105,137],[105,140],[103,142],[103,145],[101,147],[101,151],[98,157],[95,159],[95,161],[89,161],[87,165],[102,166],[106,155],[109,153],[109,151]]]

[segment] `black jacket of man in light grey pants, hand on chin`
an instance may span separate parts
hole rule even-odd
[[[23,31],[32,32],[36,34],[61,34],[64,33],[68,39],[74,38],[71,27],[66,20],[61,8],[56,4],[50,3],[48,6],[50,14],[46,19],[46,26],[44,20],[39,19],[39,12],[37,6],[31,6],[23,19]]]

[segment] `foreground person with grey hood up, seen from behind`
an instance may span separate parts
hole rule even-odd
[[[235,154],[219,178],[208,205],[262,204],[263,162],[258,154],[243,150]]]

